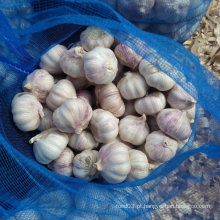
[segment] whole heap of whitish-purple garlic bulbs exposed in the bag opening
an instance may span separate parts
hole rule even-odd
[[[59,174],[120,183],[146,177],[191,134],[195,100],[107,32],[88,27],[41,57],[12,100],[36,160]]]

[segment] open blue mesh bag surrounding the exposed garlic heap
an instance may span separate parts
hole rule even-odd
[[[36,132],[23,133],[12,120],[12,98],[41,55],[57,43],[76,42],[90,25],[132,48],[198,103],[185,146],[138,181],[112,185],[56,174],[34,158],[28,140]],[[220,82],[181,44],[141,31],[98,0],[8,0],[0,1],[0,47],[0,219],[168,219],[174,209],[161,205],[181,196],[199,203],[195,189],[209,189],[208,181],[219,183]],[[215,190],[210,188],[203,203],[212,201],[210,219],[219,219]],[[181,213],[183,219],[202,218],[193,208]]]

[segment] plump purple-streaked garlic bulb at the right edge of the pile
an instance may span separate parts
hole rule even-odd
[[[176,140],[186,140],[191,134],[186,112],[178,109],[163,109],[157,115],[157,124],[161,131]]]

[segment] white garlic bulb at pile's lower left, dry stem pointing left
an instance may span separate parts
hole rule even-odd
[[[69,138],[56,128],[50,128],[31,138],[36,160],[41,164],[49,164],[56,160],[67,146]]]

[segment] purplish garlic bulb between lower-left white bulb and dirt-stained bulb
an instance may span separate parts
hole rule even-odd
[[[73,158],[74,153],[66,147],[56,160],[48,164],[48,167],[61,175],[72,176]]]

